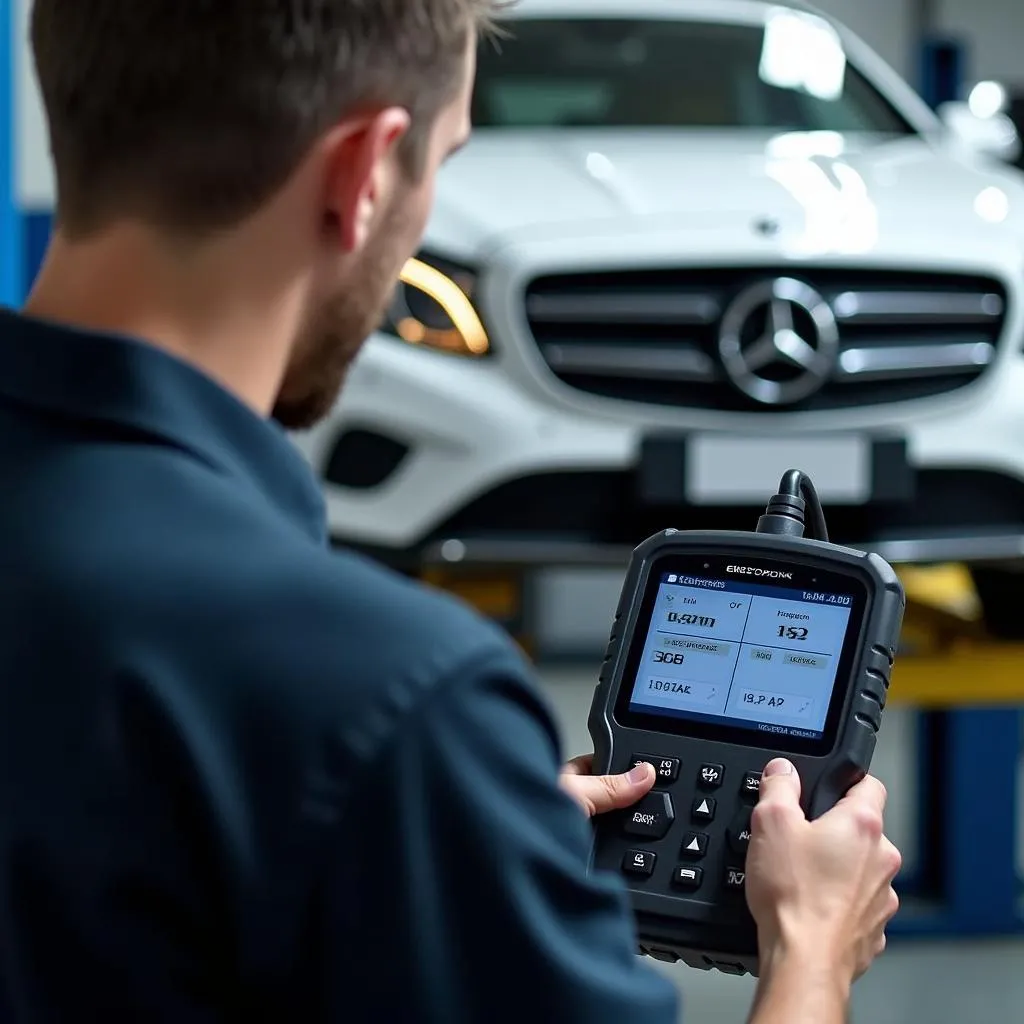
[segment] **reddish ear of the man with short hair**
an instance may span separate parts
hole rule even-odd
[[[364,246],[387,203],[398,173],[395,150],[410,124],[408,111],[391,106],[341,124],[328,137],[326,215],[345,252]]]

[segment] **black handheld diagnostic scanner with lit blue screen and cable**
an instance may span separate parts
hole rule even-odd
[[[744,885],[762,771],[792,761],[810,818],[864,777],[904,604],[887,562],[828,543],[798,470],[755,532],[669,529],[636,549],[590,732],[596,771],[656,773],[596,820],[592,852],[626,881],[641,953],[758,974]]]

